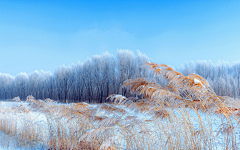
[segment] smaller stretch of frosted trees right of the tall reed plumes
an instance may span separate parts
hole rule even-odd
[[[211,61],[199,60],[186,63],[179,69],[184,75],[196,73],[207,79],[217,95],[239,98],[240,95],[240,61],[229,64],[219,61],[216,65]]]

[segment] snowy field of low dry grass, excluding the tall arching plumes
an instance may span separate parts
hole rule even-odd
[[[76,145],[96,149],[240,148],[236,117],[190,108],[156,110],[36,100],[2,101],[0,108],[0,149],[74,149]],[[90,141],[94,143],[86,144]]]

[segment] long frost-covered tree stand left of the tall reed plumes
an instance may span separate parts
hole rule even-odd
[[[127,79],[149,76],[141,66],[149,58],[138,52],[118,50],[114,57],[109,53],[95,55],[72,66],[62,66],[54,74],[34,71],[19,73],[17,77],[0,73],[0,99],[28,95],[36,99],[51,98],[60,102],[102,103],[110,94],[129,95],[121,88]]]

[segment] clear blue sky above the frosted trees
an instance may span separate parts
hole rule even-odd
[[[240,1],[0,0],[0,72],[54,72],[106,51],[157,63],[240,60]]]

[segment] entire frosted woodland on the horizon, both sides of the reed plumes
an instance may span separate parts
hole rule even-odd
[[[161,58],[160,58],[161,59]],[[119,50],[114,57],[109,53],[95,55],[72,66],[62,66],[52,74],[34,71],[19,73],[17,77],[0,73],[0,99],[19,96],[25,100],[28,95],[36,99],[54,99],[59,102],[103,103],[110,94],[131,95],[122,88],[127,79],[152,78],[150,70],[142,67],[149,58],[138,52]],[[240,62],[229,64],[211,61],[189,62],[177,68],[184,75],[196,73],[208,80],[217,95],[239,98]],[[155,78],[165,85],[167,81]]]

